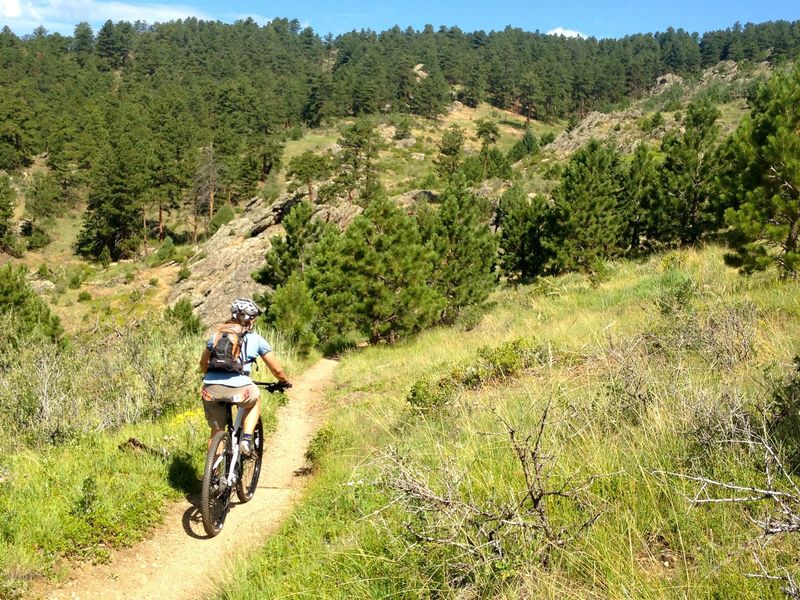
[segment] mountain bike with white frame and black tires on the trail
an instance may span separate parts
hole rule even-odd
[[[291,384],[280,381],[253,383],[270,393],[282,392],[291,387]],[[203,516],[203,528],[209,537],[214,537],[222,531],[234,488],[241,504],[249,502],[256,493],[258,476],[261,474],[261,460],[264,453],[264,427],[261,417],[253,432],[253,453],[251,456],[244,456],[239,450],[244,411],[237,409],[234,417],[235,402],[232,400],[233,398],[221,401],[225,405],[226,426],[212,438],[203,471],[200,512]]]

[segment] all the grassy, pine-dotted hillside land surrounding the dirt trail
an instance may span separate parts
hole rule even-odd
[[[0,597],[196,491],[195,354],[256,290],[291,374],[346,358],[311,527],[264,555],[316,562],[287,558],[295,587],[246,567],[241,595],[336,588],[343,561],[355,596],[755,598],[731,552],[764,539],[755,574],[796,592],[791,536],[681,503],[749,490],[796,528],[798,55],[800,22],[3,29]]]

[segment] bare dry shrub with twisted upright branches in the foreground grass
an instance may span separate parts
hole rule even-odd
[[[599,517],[589,508],[593,478],[554,474],[556,457],[542,447],[548,410],[529,432],[495,413],[517,471],[515,483],[503,489],[477,491],[480,475],[454,460],[425,466],[396,450],[384,452],[380,481],[387,508],[399,506],[408,515],[407,551],[421,547],[426,564],[443,569],[449,585],[484,588],[531,564],[547,568],[555,551]]]

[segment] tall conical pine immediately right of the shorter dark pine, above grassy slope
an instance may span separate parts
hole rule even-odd
[[[590,271],[619,254],[625,233],[619,194],[617,152],[590,140],[572,155],[554,193],[561,269]]]

